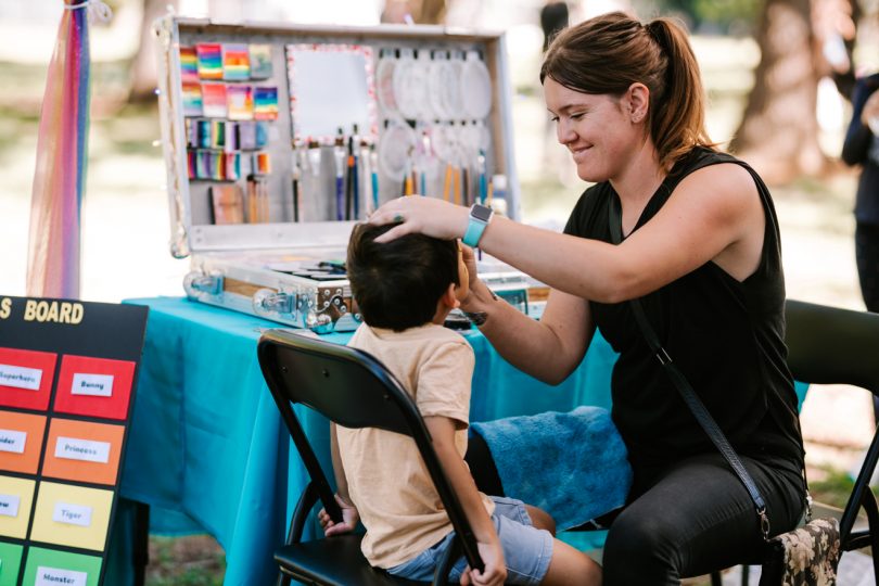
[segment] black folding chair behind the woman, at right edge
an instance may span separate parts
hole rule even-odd
[[[814,384],[849,384],[879,396],[879,314],[854,311],[788,300],[785,309],[788,366],[793,378]],[[872,547],[874,575],[879,584],[879,509],[869,481],[879,460],[879,430],[874,433],[864,463],[840,519],[840,552]],[[858,511],[867,528],[852,531]],[[762,560],[752,560],[760,564]],[[742,569],[748,585],[748,566]],[[718,572],[712,584],[719,585]]]

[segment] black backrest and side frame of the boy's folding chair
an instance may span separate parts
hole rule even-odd
[[[409,394],[368,353],[283,330],[257,346],[259,367],[327,512],[339,513],[329,482],[291,405],[302,404],[345,428],[379,428],[411,436],[446,508],[471,568],[482,570],[470,523],[443,472],[421,413]]]

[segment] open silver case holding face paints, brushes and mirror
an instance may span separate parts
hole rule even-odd
[[[171,254],[192,258],[191,298],[348,330],[344,275],[277,264],[344,258],[354,224],[405,194],[519,218],[502,34],[175,16],[154,30]]]

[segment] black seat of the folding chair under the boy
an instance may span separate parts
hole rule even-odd
[[[337,586],[400,586],[424,583],[396,578],[375,570],[360,551],[362,535],[336,535],[292,544],[275,552],[281,571],[302,582]]]

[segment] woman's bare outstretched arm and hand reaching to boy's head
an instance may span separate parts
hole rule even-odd
[[[388,202],[371,221],[386,224],[397,216],[404,224],[377,241],[408,232],[460,238],[468,224],[467,208],[429,198]],[[486,227],[480,246],[552,289],[619,303],[655,291],[710,260],[746,279],[760,263],[764,221],[751,175],[739,165],[719,164],[680,181],[662,209],[620,245],[498,217]]]

